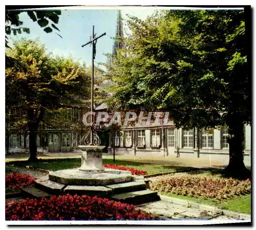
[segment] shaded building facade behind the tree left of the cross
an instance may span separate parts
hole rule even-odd
[[[38,152],[71,152],[80,144],[85,133],[81,125],[83,108],[68,108],[61,112],[62,123],[42,124],[37,130]],[[77,128],[78,127],[78,128]],[[7,133],[6,153],[28,152],[29,132],[10,129]]]

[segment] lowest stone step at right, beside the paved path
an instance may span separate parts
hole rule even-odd
[[[156,200],[160,200],[157,192],[151,190],[141,190],[130,193],[121,193],[111,196],[113,200],[121,201],[129,204],[141,204],[148,203]]]

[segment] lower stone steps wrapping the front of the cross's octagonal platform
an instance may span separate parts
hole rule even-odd
[[[132,181],[103,186],[65,185],[52,181],[48,176],[35,181],[35,188],[23,189],[26,197],[49,197],[51,194],[72,194],[108,197],[129,204],[141,204],[160,200],[157,192],[146,190],[143,176],[133,176]]]

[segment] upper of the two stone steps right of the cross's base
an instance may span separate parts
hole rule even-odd
[[[113,185],[106,185],[105,187],[113,190],[113,194],[135,192],[139,190],[145,190],[145,182],[124,182],[124,183],[115,183]]]

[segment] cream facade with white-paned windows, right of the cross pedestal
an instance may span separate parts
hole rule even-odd
[[[227,127],[220,129],[177,129],[175,124],[126,127],[115,135],[117,154],[159,154],[161,156],[229,155]],[[110,140],[113,140],[110,138]],[[244,156],[251,153],[251,127],[244,126]],[[112,146],[109,152],[113,152]]]

